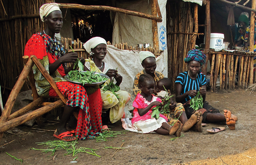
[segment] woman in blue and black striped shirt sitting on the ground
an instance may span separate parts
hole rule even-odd
[[[201,66],[205,63],[205,54],[197,49],[192,49],[188,52],[184,59],[188,63],[188,71],[182,72],[178,75],[175,81],[176,102],[182,103],[185,108],[187,118],[190,118],[194,113],[201,114],[199,122],[195,123],[194,129],[202,132],[201,122],[204,123],[226,123],[231,129],[235,129],[237,117],[232,115],[230,111],[224,110],[224,115],[218,109],[210,106],[205,102],[206,98],[206,78],[201,73]],[[190,99],[200,92],[203,98],[203,107],[195,109],[190,107]]]

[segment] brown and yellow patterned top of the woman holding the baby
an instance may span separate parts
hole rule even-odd
[[[139,78],[142,74],[147,74],[145,69],[143,69],[140,73],[137,73],[135,78],[134,78],[134,83],[133,83],[133,96],[137,96],[138,93],[141,93],[141,90],[138,89],[139,86]],[[159,81],[160,79],[164,78],[163,73],[155,71],[155,75],[154,75],[154,80],[157,83],[157,81]]]

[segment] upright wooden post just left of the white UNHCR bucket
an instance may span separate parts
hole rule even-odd
[[[206,0],[205,5],[205,23],[206,23],[206,30],[205,30],[205,50],[210,49],[210,38],[211,38],[211,17],[210,17],[210,0]],[[207,54],[205,59],[205,67],[202,70],[202,73],[206,74],[207,72],[207,64],[210,54]]]

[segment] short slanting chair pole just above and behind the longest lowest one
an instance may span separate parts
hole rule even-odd
[[[36,99],[35,101],[33,101],[32,103],[29,103],[28,105],[26,105],[25,107],[19,109],[18,111],[12,113],[9,117],[9,120],[12,120],[16,117],[19,117],[25,113],[27,113],[28,111],[30,111],[31,109],[35,108],[36,106],[38,106],[39,104],[41,104],[42,102],[44,102],[46,100],[46,98],[43,97],[39,97],[38,99]]]

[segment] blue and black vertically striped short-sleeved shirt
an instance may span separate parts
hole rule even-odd
[[[202,73],[197,74],[197,78],[195,80],[191,79],[188,75],[188,71],[182,72],[178,75],[175,84],[182,85],[182,92],[181,95],[190,90],[199,91],[199,87],[206,85],[206,78],[205,75]],[[187,96],[186,99],[182,103],[186,103],[192,97]]]

